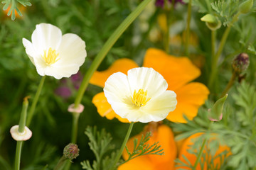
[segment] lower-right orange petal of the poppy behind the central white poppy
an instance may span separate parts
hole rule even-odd
[[[210,91],[205,85],[192,82],[176,89],[175,93],[178,103],[167,119],[172,122],[186,123],[183,114],[192,120],[197,115],[198,108],[205,103]]]

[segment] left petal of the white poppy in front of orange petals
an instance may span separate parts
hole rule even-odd
[[[117,72],[112,74],[105,82],[104,94],[107,102],[117,115],[125,118],[134,109],[127,75]]]

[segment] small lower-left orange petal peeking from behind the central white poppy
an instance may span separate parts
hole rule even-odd
[[[96,94],[92,98],[92,103],[97,107],[97,112],[107,119],[112,120],[113,118],[118,118],[118,120],[122,123],[129,123],[127,119],[121,118],[119,115],[114,113],[112,110],[110,103],[107,102],[107,98],[104,95],[104,92]]]

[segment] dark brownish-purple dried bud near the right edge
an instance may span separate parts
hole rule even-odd
[[[241,53],[233,60],[233,69],[235,72],[244,72],[250,64],[249,56],[246,53]]]

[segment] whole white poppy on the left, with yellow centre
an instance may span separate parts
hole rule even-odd
[[[85,42],[73,33],[62,35],[58,27],[49,23],[36,25],[31,40],[23,38],[22,42],[41,76],[70,77],[85,62]]]

